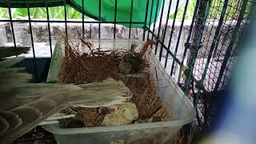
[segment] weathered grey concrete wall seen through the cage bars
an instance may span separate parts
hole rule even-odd
[[[165,46],[169,46],[169,40],[170,40],[170,33],[171,33],[171,27],[172,27],[173,21],[170,20],[167,28],[166,28],[166,38],[164,39]],[[184,51],[184,45],[186,42],[186,39],[189,34],[190,30],[190,20],[186,20],[184,22],[184,25],[182,26],[182,33],[180,35],[180,39],[178,42],[178,34],[179,30],[181,29],[181,22],[176,20],[174,25],[174,31],[170,42],[170,51],[175,53],[175,48],[177,48],[177,58],[181,61],[182,60],[182,54]],[[206,25],[207,32],[203,36],[203,43],[202,43],[202,49],[200,50],[200,54],[198,55],[198,58],[201,58],[202,61],[205,61],[205,58],[208,56],[208,52],[210,50],[210,44],[214,38],[214,32],[216,30],[216,27],[218,25],[218,22],[210,22],[208,25]],[[235,23],[232,24],[234,27]],[[86,38],[98,38],[98,24],[85,24],[85,37]],[[160,29],[160,39],[162,40],[162,32],[164,31],[164,24],[162,24]],[[222,35],[220,36],[220,45],[215,47],[215,51],[222,52],[223,45],[228,46],[230,42],[230,38],[226,36],[230,36],[232,34],[232,30],[230,30],[230,26],[224,25],[222,27]],[[82,33],[82,23],[67,23],[67,30],[68,34],[70,36],[77,34],[77,31]],[[32,32],[33,32],[33,38],[34,42],[46,42],[49,44],[49,34],[48,34],[48,26],[46,22],[32,22]],[[155,29],[155,34],[158,33],[158,26]],[[50,23],[50,34],[51,39],[53,42],[53,45],[58,39],[65,36],[65,23]],[[21,45],[30,46],[31,45],[31,38],[30,38],[30,27],[28,23],[20,23],[20,22],[14,22],[14,35],[16,38],[16,42],[20,43]],[[129,35],[129,29],[124,26],[117,25],[116,27],[116,38],[128,38]],[[142,29],[131,29],[131,38],[137,38],[142,39],[143,30]],[[114,37],[114,25],[113,24],[101,24],[101,38],[113,38]],[[147,33],[146,33],[147,38]],[[7,22],[0,22],[0,46],[4,45],[6,42],[13,42],[11,30],[10,30],[10,23]],[[178,42],[178,43],[177,43]],[[161,46],[158,45],[158,54],[161,49]],[[49,48],[47,48],[49,50]],[[171,66],[173,63],[173,58],[171,58],[170,55],[168,55],[168,58],[166,59],[166,50],[162,49],[162,58],[161,62],[162,65],[165,66],[165,62],[167,62],[166,70],[168,73],[170,73]],[[214,59],[212,59],[214,61]],[[197,61],[198,62],[198,61]],[[203,67],[203,63],[200,64],[198,62],[198,65],[202,65],[200,67]],[[174,78],[178,78],[178,70],[179,66],[176,64],[174,66]],[[199,68],[198,68],[199,70]],[[213,70],[214,71],[214,70]],[[200,74],[199,74],[200,75]]]

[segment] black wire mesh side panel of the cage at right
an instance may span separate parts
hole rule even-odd
[[[209,14],[198,18],[205,22],[196,22],[203,32],[200,34],[200,29],[194,31],[191,44],[194,50],[190,49],[188,63],[194,68],[194,78],[199,82],[192,81],[191,95],[197,108],[198,126],[202,129],[209,127],[214,118],[214,97],[221,94],[230,80],[237,57],[236,46],[250,22],[253,8],[254,1],[250,0],[208,1],[202,10]]]

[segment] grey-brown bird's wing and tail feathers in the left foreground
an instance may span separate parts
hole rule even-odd
[[[83,85],[26,83],[30,74],[10,68],[22,59],[0,62],[0,143],[14,141],[65,106],[110,106],[130,98],[124,97],[130,94],[126,86],[113,79]]]

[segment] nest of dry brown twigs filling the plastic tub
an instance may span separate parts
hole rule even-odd
[[[170,119],[166,106],[154,90],[154,82],[150,78],[149,62],[143,55],[152,42],[146,42],[142,49],[136,53],[142,62],[138,73],[144,77],[126,76],[121,73],[120,62],[127,50],[100,50],[94,48],[90,42],[79,36],[80,42],[76,46],[65,39],[64,59],[59,74],[60,83],[90,83],[102,82],[106,78],[121,80],[133,93],[130,99],[138,108],[138,119],[145,120],[157,116],[166,121]],[[82,46],[81,46],[82,44]],[[79,48],[80,45],[80,48]],[[82,47],[82,48],[81,48]],[[81,50],[82,49],[82,50]],[[84,51],[84,52],[82,52]],[[104,114],[99,114],[98,108],[70,107],[73,114],[84,122],[85,126],[101,126]],[[65,110],[64,110],[65,111]]]

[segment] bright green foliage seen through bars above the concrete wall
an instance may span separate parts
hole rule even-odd
[[[194,14],[194,6],[196,5],[197,0],[189,0],[188,7],[186,10],[186,16],[185,19],[191,19]],[[221,14],[222,6],[223,6],[224,0],[212,0],[211,2],[211,8],[210,8],[210,14],[208,16],[209,19],[218,19]],[[237,5],[241,6],[242,0],[230,0],[228,2],[228,7],[226,10],[226,18],[225,19],[236,19],[238,17],[238,10]],[[250,14],[251,10],[250,4],[246,7],[246,13],[244,18],[248,18],[248,14]],[[178,13],[176,16],[176,19],[182,19],[183,12],[185,10],[185,5],[180,7],[178,9]],[[26,8],[13,8],[11,9],[12,18],[21,18],[21,17],[27,17],[27,9]],[[32,18],[47,18],[46,8],[30,8],[30,15]],[[64,7],[63,6],[57,6],[57,7],[50,7],[49,8],[49,15],[50,18],[58,18],[58,19],[64,19],[65,13],[64,13]],[[82,14],[79,13],[77,10],[74,10],[74,8],[70,6],[66,6],[66,17],[68,19],[81,19]],[[9,18],[8,10],[6,8],[0,8],[0,18]],[[88,17],[85,17],[88,18]],[[170,19],[174,19],[174,14],[170,15]]]

